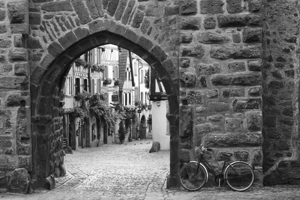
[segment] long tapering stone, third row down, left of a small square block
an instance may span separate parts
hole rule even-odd
[[[204,32],[197,34],[197,41],[204,44],[224,44],[231,39],[225,35],[215,34],[212,32]]]

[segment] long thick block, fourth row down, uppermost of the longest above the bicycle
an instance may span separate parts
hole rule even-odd
[[[222,45],[212,46],[210,50],[210,57],[217,59],[241,59],[241,58],[258,58],[261,55],[260,46],[246,46],[246,45]]]

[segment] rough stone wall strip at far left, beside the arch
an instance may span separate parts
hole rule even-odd
[[[0,185],[17,168],[32,171],[26,35],[28,1],[0,2]]]

